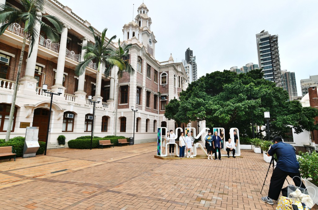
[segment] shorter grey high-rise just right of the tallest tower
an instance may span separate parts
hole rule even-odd
[[[295,97],[298,96],[295,72],[282,70],[281,75],[282,75],[283,89],[288,92],[289,101],[292,101]]]

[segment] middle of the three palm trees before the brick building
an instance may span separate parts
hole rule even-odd
[[[116,53],[114,49],[111,47],[108,47],[108,45],[117,37],[112,36],[109,41],[106,40],[106,31],[107,28],[103,30],[101,35],[96,35],[94,32],[93,27],[89,27],[92,31],[92,34],[94,36],[95,43],[87,43],[86,46],[83,46],[83,49],[85,49],[84,53],[84,61],[79,62],[79,64],[75,67],[75,75],[82,75],[85,72],[86,67],[89,65],[89,63],[96,62],[97,63],[97,75],[96,75],[96,88],[95,88],[95,95],[99,95],[98,91],[98,78],[100,75],[100,64],[105,63],[107,64],[108,68],[105,72],[106,75],[109,74],[109,69],[111,69],[113,66],[117,66],[121,70],[126,70],[128,67],[125,65],[125,61],[122,60],[122,56]],[[129,68],[127,70],[128,72],[133,71],[134,69]],[[122,73],[121,73],[122,76]],[[95,121],[95,117],[94,117]],[[94,122],[93,122],[94,125]],[[92,128],[93,136],[94,136],[94,128]]]

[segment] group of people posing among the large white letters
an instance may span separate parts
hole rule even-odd
[[[232,139],[229,138],[228,141],[225,142],[225,150],[227,151],[227,157],[230,157],[230,152],[233,154],[233,158],[235,158],[235,147],[238,144],[238,136],[236,135],[236,131],[233,132],[234,134],[234,143]],[[174,156],[174,149],[175,149],[175,139],[176,135],[173,133],[173,130],[170,130],[165,135],[164,141],[162,142],[163,150],[162,153],[165,153],[166,150],[166,143],[173,143],[169,144],[169,155]],[[221,149],[223,148],[223,141],[224,141],[224,131],[221,131],[220,135],[218,132],[215,131],[214,135],[212,135],[211,130],[208,131],[208,135],[205,137],[205,148],[207,149],[208,153],[208,160],[210,160],[209,155],[214,153],[214,160],[221,160]],[[179,157],[184,158],[184,152],[186,152],[187,157],[193,158],[192,154],[192,147],[194,143],[193,132],[188,132],[186,136],[184,136],[184,132],[181,132],[181,136],[179,137]],[[168,149],[168,148],[167,148]],[[188,155],[188,152],[190,156]],[[218,157],[217,157],[218,153]]]

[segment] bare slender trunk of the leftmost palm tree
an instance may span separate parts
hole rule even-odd
[[[24,32],[24,34],[23,34],[23,44],[22,44],[22,49],[21,49],[21,54],[20,54],[20,59],[19,59],[17,79],[16,79],[16,83],[14,85],[14,90],[13,90],[13,98],[12,98],[12,103],[11,103],[11,108],[10,108],[9,122],[8,122],[7,132],[6,132],[6,135],[5,135],[5,141],[9,141],[9,139],[10,139],[12,119],[13,119],[13,116],[14,116],[14,109],[15,109],[15,106],[16,106],[17,91],[18,91],[18,86],[19,86],[20,73],[21,73],[22,61],[23,61],[24,49],[25,49],[25,43],[26,43],[26,32]]]

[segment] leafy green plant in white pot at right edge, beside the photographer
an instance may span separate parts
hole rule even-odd
[[[318,193],[318,153],[302,153],[299,152],[299,156],[297,157],[299,162],[299,171],[301,173],[301,177],[303,178],[304,184],[306,187],[309,187],[308,193],[313,199],[314,203],[318,205],[318,196],[316,194],[315,198],[313,197],[316,193]],[[311,187],[314,187],[311,188]]]

